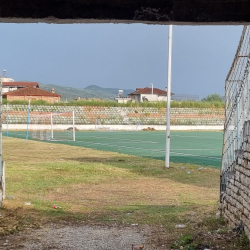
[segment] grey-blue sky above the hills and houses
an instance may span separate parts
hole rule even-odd
[[[224,95],[243,26],[173,26],[172,92]],[[85,88],[165,89],[168,26],[0,24],[0,75]]]

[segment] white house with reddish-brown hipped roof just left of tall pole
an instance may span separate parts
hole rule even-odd
[[[128,94],[132,102],[161,102],[167,101],[167,91],[157,88],[136,88],[136,91]],[[173,95],[173,93],[171,93]]]

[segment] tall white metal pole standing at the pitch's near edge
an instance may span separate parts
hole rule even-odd
[[[168,28],[168,88],[167,88],[167,131],[165,167],[169,168],[170,158],[170,102],[171,102],[171,68],[172,68],[172,25]]]

